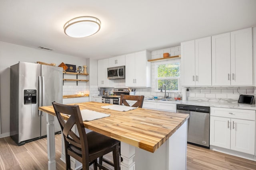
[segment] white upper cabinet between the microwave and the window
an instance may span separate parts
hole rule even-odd
[[[150,87],[150,62],[151,53],[140,51],[125,55],[125,86]]]

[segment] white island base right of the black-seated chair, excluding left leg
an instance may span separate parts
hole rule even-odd
[[[121,170],[186,170],[186,153],[187,121],[154,153],[121,142]]]

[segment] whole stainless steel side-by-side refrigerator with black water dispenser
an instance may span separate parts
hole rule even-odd
[[[63,68],[19,62],[10,66],[10,136],[18,144],[46,136],[46,114],[39,106],[62,103]],[[56,117],[55,132],[61,131]]]

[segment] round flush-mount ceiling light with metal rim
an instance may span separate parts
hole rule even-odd
[[[99,30],[100,20],[90,16],[74,18],[64,25],[64,33],[74,38],[88,37]]]

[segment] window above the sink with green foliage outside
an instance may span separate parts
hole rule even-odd
[[[180,63],[156,64],[156,90],[166,85],[166,90],[179,91]]]

